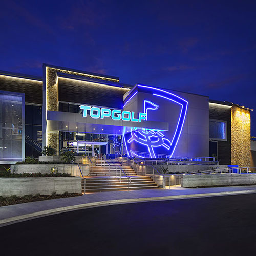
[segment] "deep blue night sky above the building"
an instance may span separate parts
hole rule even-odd
[[[0,1],[0,70],[42,63],[230,101],[256,136],[255,1]]]

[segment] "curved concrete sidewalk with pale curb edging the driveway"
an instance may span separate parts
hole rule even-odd
[[[79,197],[60,198],[0,207],[0,226],[64,211],[121,203],[174,200],[256,193],[256,186],[144,189],[91,193]]]

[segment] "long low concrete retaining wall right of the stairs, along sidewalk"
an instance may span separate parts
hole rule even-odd
[[[182,187],[237,186],[256,184],[256,174],[196,174],[183,175]]]

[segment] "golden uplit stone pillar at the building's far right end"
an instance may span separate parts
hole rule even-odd
[[[250,166],[250,111],[231,108],[231,164]]]

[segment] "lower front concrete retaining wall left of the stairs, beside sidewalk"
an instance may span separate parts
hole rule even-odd
[[[0,196],[81,193],[80,177],[0,178]]]

